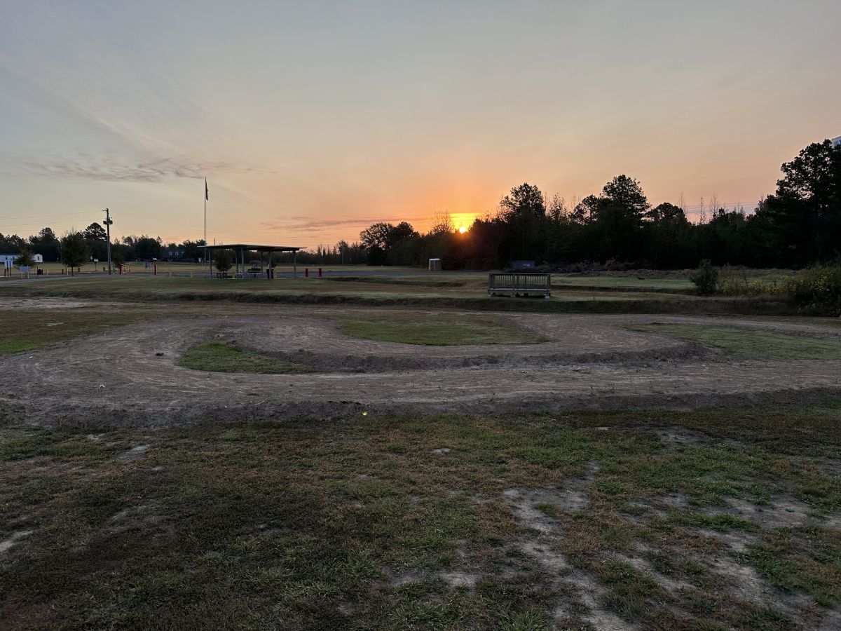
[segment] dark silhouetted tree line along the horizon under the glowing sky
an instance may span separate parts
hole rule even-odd
[[[574,204],[555,195],[545,198],[537,186],[523,183],[500,199],[494,212],[473,221],[466,233],[446,214],[434,217],[426,233],[406,221],[378,222],[359,241],[339,241],[299,252],[304,264],[351,263],[425,266],[441,258],[445,268],[503,268],[518,260],[547,266],[575,263],[616,264],[627,268],[696,268],[715,265],[800,268],[841,257],[841,146],[812,143],[782,167],[774,194],[755,209],[726,209],[715,199],[708,216],[692,223],[683,204],[648,201],[642,185],[618,175]],[[87,257],[104,261],[107,237],[94,222],[61,239],[49,228],[23,239],[0,234],[0,252],[41,254],[45,261],[65,260],[68,237]],[[198,261],[204,241],[168,243],[160,237],[125,236],[112,244],[114,262],[174,258]],[[167,256],[167,254],[175,256]],[[63,257],[63,258],[62,258]],[[78,257],[78,256],[77,256]],[[276,255],[291,262],[291,255]]]

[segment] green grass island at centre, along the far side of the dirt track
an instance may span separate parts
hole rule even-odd
[[[405,316],[395,315],[389,320],[346,320],[341,323],[341,330],[347,335],[368,340],[426,346],[537,344],[547,341],[547,338],[525,329],[465,318],[408,320]]]

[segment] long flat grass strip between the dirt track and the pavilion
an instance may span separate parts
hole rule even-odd
[[[443,278],[443,277],[436,277]],[[431,284],[434,283],[434,284]],[[47,278],[0,284],[5,295],[105,300],[276,302],[292,304],[356,304],[436,306],[471,310],[516,310],[558,313],[737,313],[791,314],[782,300],[704,297],[670,291],[555,289],[552,300],[490,298],[484,281],[429,277],[275,278],[271,281],[219,280],[168,276]]]

